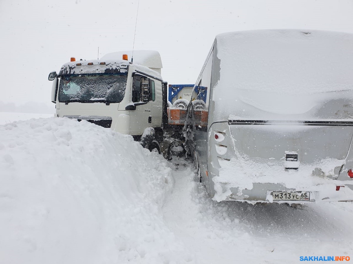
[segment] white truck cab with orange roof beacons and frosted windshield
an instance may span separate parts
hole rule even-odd
[[[52,102],[57,117],[87,120],[139,139],[148,127],[163,136],[167,121],[167,83],[161,77],[157,51],[114,52],[99,60],[64,64],[52,80]],[[164,99],[163,99],[164,96]],[[163,114],[164,113],[164,114]]]

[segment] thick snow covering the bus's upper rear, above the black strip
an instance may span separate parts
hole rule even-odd
[[[353,34],[255,30],[219,34],[215,44],[221,118],[315,119],[329,100],[337,109],[353,102]]]

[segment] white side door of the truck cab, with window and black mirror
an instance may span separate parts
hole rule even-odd
[[[136,110],[130,112],[131,135],[142,135],[146,127],[152,126],[150,78],[133,75],[131,101],[136,106]]]

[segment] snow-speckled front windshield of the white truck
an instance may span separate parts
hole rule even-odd
[[[124,98],[127,74],[73,74],[62,75],[59,102],[110,102]]]

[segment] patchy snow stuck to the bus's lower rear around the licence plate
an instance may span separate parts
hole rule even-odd
[[[325,176],[334,174],[333,169],[337,166],[342,166],[341,160],[327,158],[313,164],[303,163],[300,165],[299,171],[285,171],[283,163],[285,162],[278,160],[249,158],[239,153],[237,153],[236,157],[231,158],[230,161],[219,159],[220,176],[212,178],[216,191],[213,200],[217,202],[238,200],[252,204],[256,202],[272,202],[271,195],[267,195],[265,201],[246,200],[249,196],[245,195],[243,190],[252,190],[255,184],[275,184],[279,191],[282,190],[282,187],[283,189],[290,188],[293,191],[310,191],[313,196],[311,198],[315,202],[353,199],[353,191],[347,186],[352,184],[352,181],[333,180]],[[322,176],[313,175],[318,168],[322,172]],[[336,186],[342,186],[340,191],[336,191]],[[232,194],[231,188],[234,187],[237,188],[238,192]],[[266,191],[266,187],[263,188]]]

